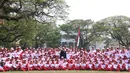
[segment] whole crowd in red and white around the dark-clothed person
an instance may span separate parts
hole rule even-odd
[[[130,71],[129,49],[86,50],[63,48],[1,48],[0,71],[32,70],[105,70]]]

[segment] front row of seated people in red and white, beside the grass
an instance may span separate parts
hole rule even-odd
[[[5,65],[0,66],[1,71],[9,70],[108,70],[108,71],[130,71],[130,60],[127,63],[123,63],[122,60],[110,61],[106,63],[105,61],[101,62],[92,62],[92,61],[79,61],[79,60],[50,60],[50,61],[7,61]]]

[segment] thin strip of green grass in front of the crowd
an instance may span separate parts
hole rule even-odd
[[[127,71],[118,72],[118,71],[8,71],[3,73],[130,73]]]

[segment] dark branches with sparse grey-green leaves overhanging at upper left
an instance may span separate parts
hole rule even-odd
[[[33,18],[50,22],[64,19],[67,7],[64,0],[0,0],[0,19]]]

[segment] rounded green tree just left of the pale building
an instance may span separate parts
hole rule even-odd
[[[60,30],[52,24],[39,24],[35,36],[35,47],[42,47],[47,43],[49,47],[58,47],[60,43]]]

